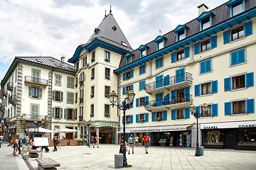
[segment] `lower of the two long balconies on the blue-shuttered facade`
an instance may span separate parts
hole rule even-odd
[[[189,106],[192,104],[193,98],[191,94],[185,94],[184,96],[174,96],[170,98],[162,98],[160,100],[149,101],[146,103],[146,111],[153,111],[155,109],[162,108],[176,108]]]

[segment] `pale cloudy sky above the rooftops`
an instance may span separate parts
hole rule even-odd
[[[110,11],[134,49],[225,0],[1,0],[0,79],[16,56],[72,57]]]

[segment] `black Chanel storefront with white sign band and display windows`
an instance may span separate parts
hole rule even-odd
[[[256,121],[201,124],[201,130],[204,147],[256,150]]]

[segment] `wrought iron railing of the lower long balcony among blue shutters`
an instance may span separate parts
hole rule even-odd
[[[177,103],[191,103],[192,100],[192,95],[191,94],[184,94],[180,96],[172,96],[169,98],[161,98],[159,100],[154,100],[154,101],[149,101],[148,103],[145,103],[145,108],[150,109],[150,108],[156,108],[159,106],[174,106]]]

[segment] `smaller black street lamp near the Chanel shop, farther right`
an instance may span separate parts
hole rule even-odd
[[[196,157],[199,157],[199,142],[198,142],[198,118],[200,118],[202,115],[206,114],[208,111],[208,105],[206,103],[203,104],[202,109],[203,112],[200,113],[200,111],[196,111],[196,106],[194,106],[193,104],[191,104],[191,106],[189,106],[190,111],[191,111],[191,115],[193,115],[196,118]]]

